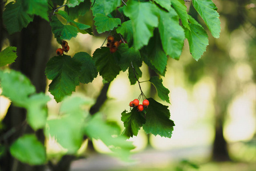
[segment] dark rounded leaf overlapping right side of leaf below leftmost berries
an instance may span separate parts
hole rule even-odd
[[[78,52],[73,58],[82,64],[80,82],[84,84],[92,82],[97,77],[97,68],[92,57],[86,52]]]

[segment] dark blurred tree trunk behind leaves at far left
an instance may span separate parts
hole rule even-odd
[[[2,34],[2,25],[0,30]],[[1,35],[1,42],[3,37]],[[16,62],[11,65],[11,68],[25,74],[35,86],[36,92],[45,92],[46,90],[46,75],[44,74],[44,69],[46,68],[46,63],[50,56],[51,38],[52,32],[49,23],[36,16],[34,17],[34,21],[31,22],[27,28],[23,28],[21,32],[17,32],[9,37],[10,46],[17,47],[18,55]],[[25,109],[14,107],[13,105],[10,106],[5,119],[2,121],[4,129],[1,134],[6,133],[11,129],[15,130],[15,132],[5,140],[5,145],[11,145],[11,143],[22,136],[23,133],[34,132],[29,125],[23,124],[25,123],[25,119]],[[38,140],[44,144],[42,129],[36,131],[36,136],[38,137]],[[44,165],[30,166],[24,164],[13,158],[9,152],[6,152],[6,155],[1,158],[0,162],[1,169],[6,171],[44,170]]]

